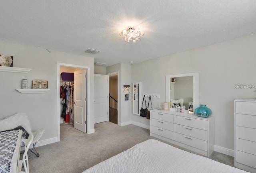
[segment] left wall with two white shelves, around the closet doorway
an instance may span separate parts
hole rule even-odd
[[[57,63],[83,65],[90,67],[90,119],[94,120],[94,59],[64,52],[0,41],[2,55],[13,55],[13,67],[30,68],[26,74],[0,72],[0,119],[25,112],[32,124],[32,130],[45,128],[41,140],[57,138]],[[46,94],[21,94],[16,88],[21,88],[21,80],[28,79],[32,88],[32,80],[48,80]],[[94,123],[90,123],[94,128]]]

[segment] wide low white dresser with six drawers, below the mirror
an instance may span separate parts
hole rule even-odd
[[[214,150],[214,117],[150,110],[150,136],[210,157]]]

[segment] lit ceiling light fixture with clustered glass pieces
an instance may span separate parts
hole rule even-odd
[[[135,30],[133,27],[129,27],[127,29],[123,29],[120,34],[120,36],[124,36],[124,40],[129,43],[131,40],[132,42],[136,43],[136,40],[140,39],[141,36],[144,35],[141,34],[140,32],[140,28],[138,28],[137,30]]]

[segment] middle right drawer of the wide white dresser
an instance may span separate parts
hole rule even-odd
[[[192,136],[200,140],[208,141],[208,131],[206,130],[174,124],[174,132],[177,132],[179,134],[184,134],[187,136]]]

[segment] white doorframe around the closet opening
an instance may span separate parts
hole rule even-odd
[[[86,133],[88,134],[90,129],[90,67],[82,66],[82,65],[73,65],[73,64],[65,64],[65,63],[57,63],[57,142],[60,141],[60,67],[71,67],[77,69],[85,69],[86,70]]]

